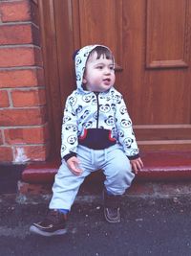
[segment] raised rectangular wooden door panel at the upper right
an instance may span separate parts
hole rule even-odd
[[[146,67],[188,66],[189,2],[147,1]]]

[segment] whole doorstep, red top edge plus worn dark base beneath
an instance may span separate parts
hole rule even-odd
[[[128,190],[128,197],[165,198],[191,195],[191,151],[145,152],[141,158],[144,168]],[[54,175],[59,165],[59,160],[53,160],[27,166],[22,173],[22,179],[18,182],[18,201],[38,203],[50,199]],[[88,176],[77,198],[99,198],[103,181],[104,176],[101,172]]]

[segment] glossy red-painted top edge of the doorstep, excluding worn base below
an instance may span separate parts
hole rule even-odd
[[[138,180],[182,180],[191,178],[191,151],[145,152],[141,156],[144,168],[138,173]],[[22,173],[24,182],[33,184],[53,183],[60,161],[31,164]]]

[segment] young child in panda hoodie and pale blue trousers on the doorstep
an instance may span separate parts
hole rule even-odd
[[[103,170],[104,216],[120,221],[118,198],[143,167],[123,98],[113,87],[115,59],[103,45],[89,45],[75,55],[77,89],[68,97],[62,126],[63,159],[53,184],[53,198],[44,221],[32,233],[66,233],[67,215],[84,178]]]

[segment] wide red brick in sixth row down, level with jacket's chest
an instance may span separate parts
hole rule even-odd
[[[0,126],[35,126],[46,121],[45,107],[0,109]]]

